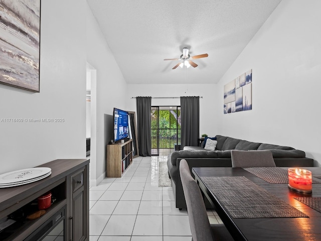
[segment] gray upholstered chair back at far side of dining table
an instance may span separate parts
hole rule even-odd
[[[275,167],[272,153],[269,150],[231,151],[232,167]]]

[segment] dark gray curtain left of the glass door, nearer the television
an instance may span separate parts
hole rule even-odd
[[[139,156],[151,156],[150,109],[151,97],[136,97],[137,140]]]

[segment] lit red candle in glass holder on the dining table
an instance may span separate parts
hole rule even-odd
[[[311,171],[300,168],[288,169],[289,188],[309,193],[312,192],[312,173]]]

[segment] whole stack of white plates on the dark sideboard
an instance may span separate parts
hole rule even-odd
[[[0,188],[15,187],[39,181],[51,175],[49,167],[34,167],[0,175]]]

